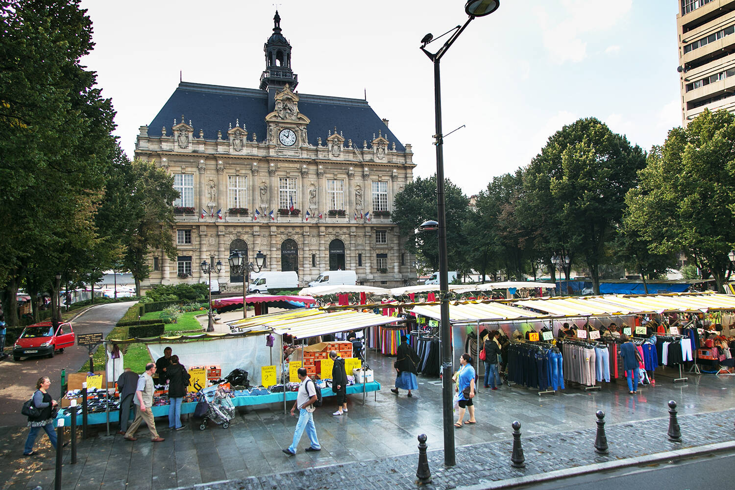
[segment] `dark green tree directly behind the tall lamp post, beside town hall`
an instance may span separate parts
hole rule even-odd
[[[470,216],[470,201],[462,190],[449,179],[444,184],[445,213],[447,224],[447,253],[449,270],[464,271],[467,261],[462,255],[462,244],[467,240],[463,224]],[[420,262],[439,268],[439,240],[431,231],[416,233],[418,226],[426,220],[437,220],[437,176],[429,179],[418,177],[395,195],[393,223],[398,224],[401,236],[406,239],[406,250],[415,254]]]

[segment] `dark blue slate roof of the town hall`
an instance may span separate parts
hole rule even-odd
[[[331,96],[314,96],[304,93],[298,94],[298,112],[311,120],[306,130],[309,135],[309,145],[317,145],[317,138],[326,145],[329,131],[341,133],[357,148],[362,148],[362,142],[373,140],[373,134],[379,131],[390,142],[395,143],[396,151],[405,151],[406,148],[395,137],[385,123],[370,108],[368,101],[359,98],[342,98]],[[248,141],[252,134],[257,134],[258,141],[264,141],[266,136],[265,116],[268,115],[268,93],[239,87],[223,87],[221,85],[197,84],[181,82],[166,104],[148,125],[148,137],[159,137],[163,126],[166,134],[171,135],[173,120],[177,123],[191,120],[194,134],[204,131],[204,138],[216,140],[217,131],[222,131],[222,139],[227,139],[227,130],[232,123],[240,120],[240,127],[245,125],[248,131]]]

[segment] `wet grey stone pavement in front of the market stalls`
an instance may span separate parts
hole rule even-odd
[[[358,489],[415,488],[417,435],[425,433],[434,484],[429,488],[483,485],[483,482],[539,475],[543,472],[621,461],[633,456],[661,453],[679,447],[735,440],[733,376],[689,375],[673,383],[678,370],[658,370],[656,386],[628,394],[623,381],[603,383],[600,391],[567,387],[557,394],[539,396],[523,387],[503,386],[476,397],[476,425],[455,431],[457,466],[445,468],[442,452],[441,381],[419,376],[412,398],[396,396],[392,385],[393,358],[369,353],[368,362],[383,385],[376,395],[350,395],[349,411],[333,417],[334,402],[315,413],[319,453],[299,452],[287,457],[281,450],[293,435],[296,418],[284,415],[282,405],[240,408],[229,429],[210,425],[200,431],[157,427],[165,442],[151,443],[146,428],[137,442],[121,436],[93,434],[79,443],[79,461],[68,464],[65,452],[64,489],[169,489],[205,483],[202,489]],[[683,443],[667,440],[669,400],[678,402]],[[596,455],[595,411],[606,413],[610,454]],[[467,417],[467,416],[465,416]],[[511,423],[522,424],[526,469],[510,466]],[[187,423],[187,422],[184,422]],[[39,438],[35,458],[22,458],[26,428],[1,428],[0,489],[53,488],[54,452],[46,436]],[[226,483],[216,483],[223,480]],[[209,484],[207,484],[209,483]]]

